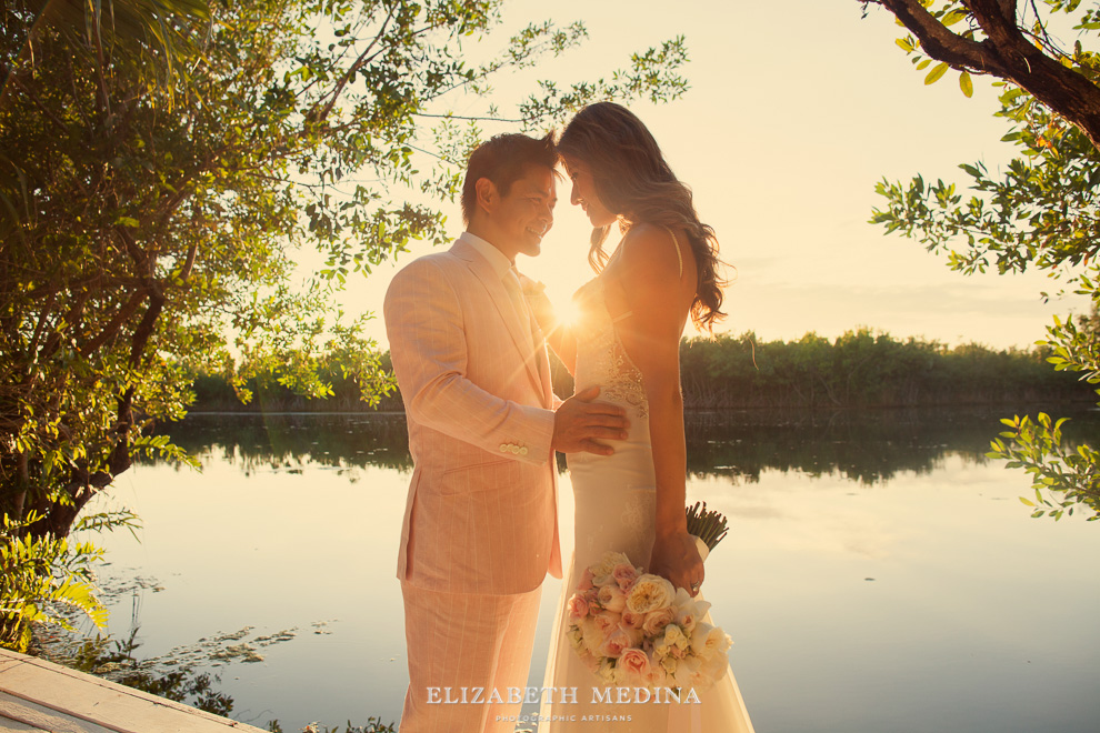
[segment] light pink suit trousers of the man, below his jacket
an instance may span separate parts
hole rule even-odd
[[[512,733],[522,704],[509,699],[527,686],[541,593],[439,593],[401,581],[409,652],[401,733]],[[501,702],[489,702],[494,691]]]

